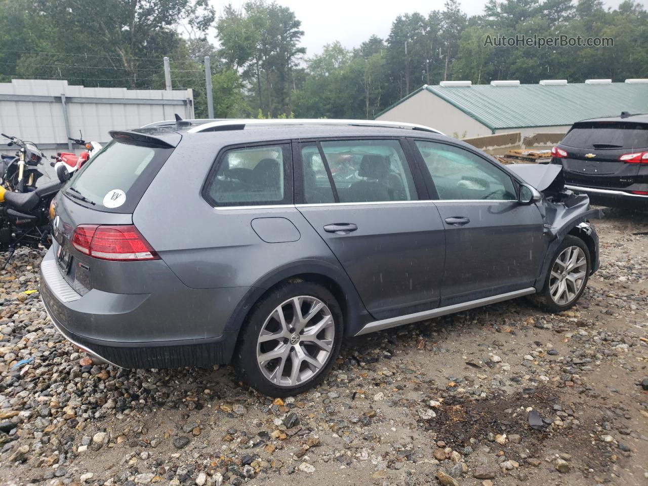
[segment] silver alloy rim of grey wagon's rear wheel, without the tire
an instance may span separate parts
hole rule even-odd
[[[276,386],[297,386],[316,376],[329,361],[335,323],[317,297],[299,295],[275,307],[257,338],[257,363]]]

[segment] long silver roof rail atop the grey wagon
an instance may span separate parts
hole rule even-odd
[[[190,120],[187,120],[190,121]],[[445,135],[439,130],[429,126],[418,125],[406,122],[390,122],[377,120],[336,120],[336,119],[229,119],[209,121],[187,130],[188,133],[216,132],[218,130],[235,130],[244,128],[246,125],[349,125],[349,126],[376,126],[383,128],[406,128],[409,130],[420,130],[421,132],[432,132]]]

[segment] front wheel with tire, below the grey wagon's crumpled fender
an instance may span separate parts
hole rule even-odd
[[[581,298],[590,277],[590,251],[581,238],[567,235],[551,259],[538,303],[549,312],[568,310]]]

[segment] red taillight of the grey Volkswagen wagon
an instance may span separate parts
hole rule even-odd
[[[137,262],[159,256],[132,224],[80,224],[72,235],[72,246],[101,260]]]

